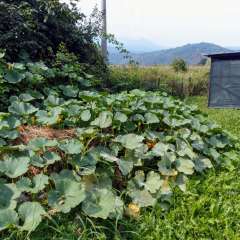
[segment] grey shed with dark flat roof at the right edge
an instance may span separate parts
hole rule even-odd
[[[240,52],[207,56],[212,60],[208,106],[240,108]]]

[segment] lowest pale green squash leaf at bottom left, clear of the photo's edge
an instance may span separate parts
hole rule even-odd
[[[44,208],[38,202],[25,202],[18,209],[19,217],[23,225],[19,227],[21,231],[34,231],[46,215]]]

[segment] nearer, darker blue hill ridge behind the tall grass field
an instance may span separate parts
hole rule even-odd
[[[212,43],[187,44],[182,47],[165,49],[160,51],[146,53],[132,53],[134,60],[141,65],[170,64],[175,58],[182,58],[188,64],[198,64],[204,57],[204,54],[232,52],[227,48]],[[127,60],[116,52],[109,53],[111,64],[126,64]]]

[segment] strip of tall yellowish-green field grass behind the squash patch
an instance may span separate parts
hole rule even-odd
[[[165,90],[179,97],[206,95],[209,66],[191,66],[186,73],[176,73],[170,66],[111,66],[112,89]]]

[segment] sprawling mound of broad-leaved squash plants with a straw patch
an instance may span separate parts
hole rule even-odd
[[[34,231],[76,207],[137,217],[168,207],[194,173],[237,159],[233,138],[166,94],[61,90],[22,92],[0,115],[0,230]]]

